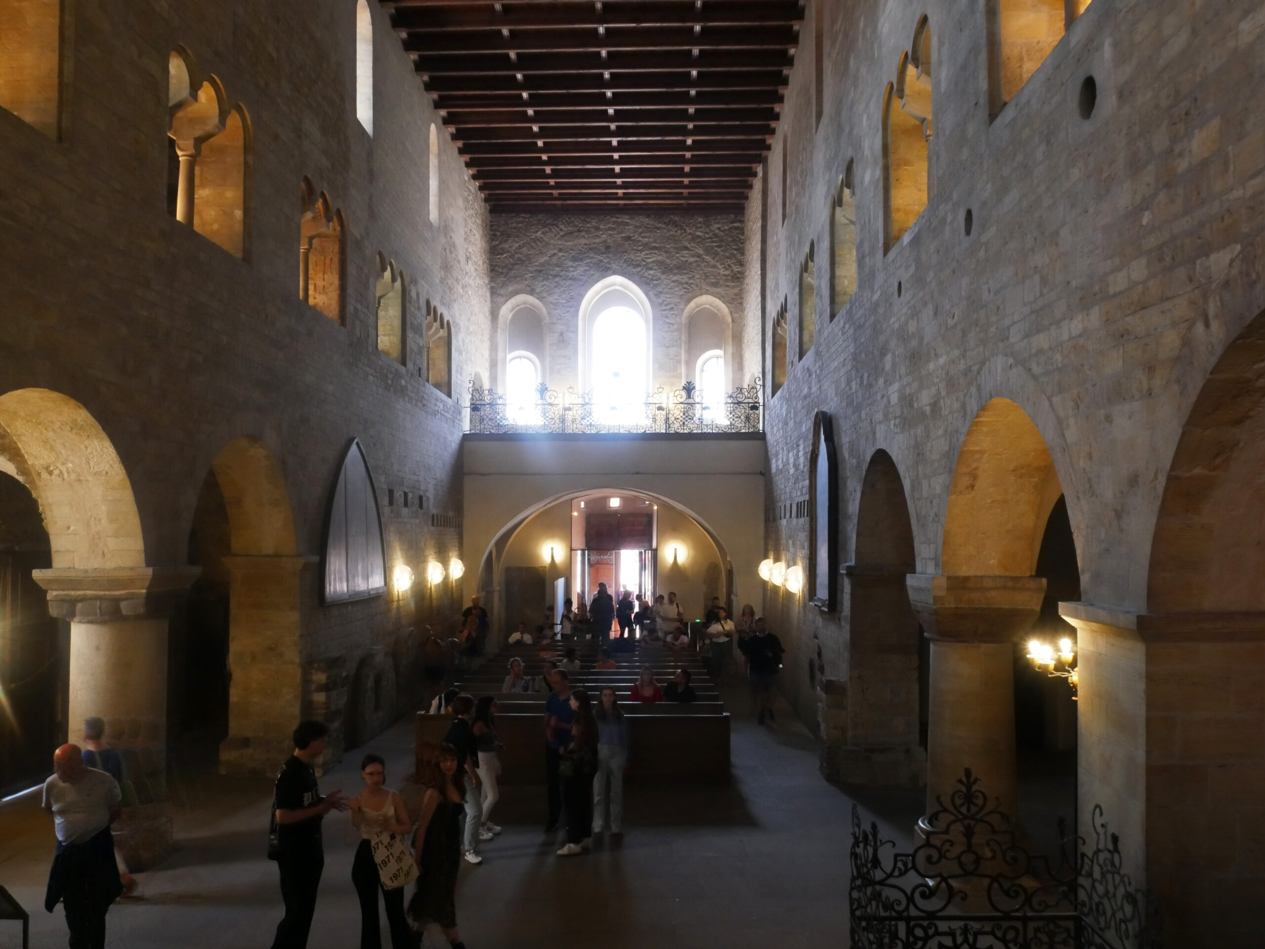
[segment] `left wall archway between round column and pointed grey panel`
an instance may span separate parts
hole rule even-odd
[[[297,556],[290,493],[280,465],[254,437],[229,442],[202,483],[190,532],[202,576],[187,608],[191,701],[185,720],[220,742],[221,771],[267,771],[285,754],[300,714]],[[226,603],[225,603],[226,600]],[[195,668],[199,658],[209,665]]]

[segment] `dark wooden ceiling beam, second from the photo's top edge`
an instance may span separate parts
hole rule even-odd
[[[410,33],[404,38],[410,56],[519,56],[540,53],[651,52],[713,49],[794,49],[799,33],[788,24],[765,27],[612,27],[596,29],[524,30],[506,37],[501,30],[460,33]],[[702,52],[700,52],[702,56]]]

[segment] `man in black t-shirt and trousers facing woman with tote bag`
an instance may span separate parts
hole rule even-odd
[[[286,915],[277,924],[272,949],[306,948],[316,911],[316,890],[325,868],[320,824],[331,810],[347,810],[342,794],[330,791],[323,797],[316,786],[312,763],[325,752],[326,734],[329,728],[321,722],[300,722],[292,735],[295,753],[277,773],[272,833],[277,839],[276,859]]]

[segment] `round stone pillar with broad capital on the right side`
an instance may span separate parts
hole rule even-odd
[[[911,574],[906,585],[931,641],[927,814],[937,797],[949,800],[969,767],[1013,816],[1013,642],[1040,615],[1045,580]]]

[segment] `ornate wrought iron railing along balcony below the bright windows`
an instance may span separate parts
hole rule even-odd
[[[764,425],[759,378],[719,399],[701,397],[687,382],[624,403],[596,401],[593,393],[573,388],[559,393],[544,383],[535,401],[511,403],[472,380],[468,408],[468,432],[759,432]]]

